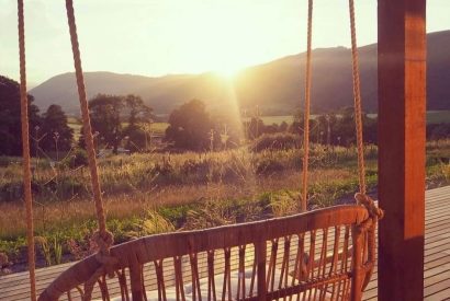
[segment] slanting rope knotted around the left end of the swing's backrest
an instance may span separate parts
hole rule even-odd
[[[85,283],[85,297],[83,300],[90,300],[93,287],[100,276],[108,274],[109,277],[114,277],[114,265],[117,259],[110,254],[110,247],[114,243],[114,239],[111,232],[106,230],[106,220],[103,209],[103,200],[101,194],[101,186],[99,180],[99,173],[97,167],[95,150],[92,136],[92,127],[89,117],[89,106],[85,86],[85,79],[81,68],[81,56],[78,44],[77,25],[75,21],[74,2],[72,0],[66,0],[67,20],[70,31],[71,48],[74,53],[75,73],[77,78],[78,95],[81,106],[82,124],[85,130],[86,150],[89,159],[89,170],[91,174],[93,199],[95,204],[97,218],[99,222],[99,231],[94,233],[93,241],[99,246],[99,252],[95,258],[101,264],[91,278]]]

